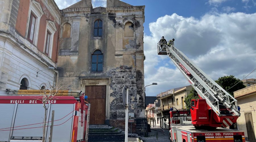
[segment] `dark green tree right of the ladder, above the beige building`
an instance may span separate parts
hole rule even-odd
[[[241,82],[240,79],[235,78],[235,76],[232,76],[232,75],[220,77],[218,78],[218,80],[215,80],[215,82],[218,83],[224,90],[228,90],[227,92],[233,97],[234,97],[234,91],[237,91],[246,87],[245,85],[243,85],[243,82]]]

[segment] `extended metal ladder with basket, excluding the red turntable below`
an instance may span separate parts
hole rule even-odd
[[[173,42],[159,42],[158,55],[168,55],[172,59],[199,96],[206,100],[218,116],[240,116],[237,100],[174,47]]]

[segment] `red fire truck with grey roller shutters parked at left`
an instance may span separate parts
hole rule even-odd
[[[42,141],[45,112],[42,96],[23,94],[26,95],[0,95],[0,141]],[[55,111],[52,141],[88,141],[90,103],[84,94],[55,95],[46,106],[46,141],[49,141],[52,110]]]

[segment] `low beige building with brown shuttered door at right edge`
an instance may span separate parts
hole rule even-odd
[[[245,140],[256,141],[256,84],[235,91],[234,97],[241,108],[241,116],[237,120],[238,129],[245,132]]]

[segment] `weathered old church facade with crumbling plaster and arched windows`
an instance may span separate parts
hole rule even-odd
[[[62,10],[57,82],[85,92],[91,103],[90,124],[124,130],[124,85],[129,87],[129,112],[135,114],[133,127],[146,124],[144,8],[119,0],[94,8],[91,0],[81,0]]]

